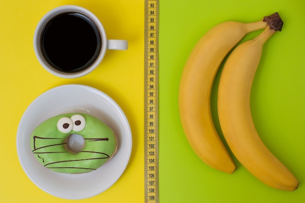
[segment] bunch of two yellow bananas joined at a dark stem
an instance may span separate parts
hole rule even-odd
[[[236,169],[211,116],[210,93],[224,58],[249,32],[265,29],[258,37],[237,46],[229,55],[218,89],[218,116],[234,156],[260,181],[282,190],[299,182],[267,149],[253,124],[250,92],[267,39],[281,31],[278,13],[252,23],[223,22],[208,31],[193,48],[181,75],[179,113],[191,148],[207,165],[227,173]]]

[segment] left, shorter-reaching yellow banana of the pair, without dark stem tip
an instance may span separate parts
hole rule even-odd
[[[266,26],[264,20],[216,25],[197,42],[183,69],[179,85],[182,128],[198,157],[217,170],[233,173],[236,166],[212,121],[210,92],[215,74],[225,56],[246,34]]]

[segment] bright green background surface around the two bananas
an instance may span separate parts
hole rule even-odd
[[[253,22],[279,12],[282,32],[265,44],[256,72],[251,110],[263,142],[300,181],[296,191],[276,190],[252,176],[233,157],[229,175],[205,165],[192,151],[181,127],[178,87],[184,64],[200,37],[228,20]],[[305,1],[304,0],[160,0],[160,202],[301,203],[305,199]],[[259,35],[247,35],[242,41]],[[216,75],[211,95],[217,117]]]

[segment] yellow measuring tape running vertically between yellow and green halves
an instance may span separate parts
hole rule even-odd
[[[144,171],[145,203],[159,203],[158,36],[159,0],[145,0]]]

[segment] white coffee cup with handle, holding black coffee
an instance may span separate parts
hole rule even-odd
[[[60,15],[64,15],[67,13],[73,13],[73,14],[80,14],[82,16],[85,16],[91,22],[94,23],[95,28],[97,28],[97,32],[100,37],[100,44],[99,48],[96,48],[95,51],[95,57],[88,60],[86,65],[82,66],[83,70],[80,71],[64,71],[55,65],[55,63],[52,62],[47,52],[45,51],[45,47],[42,45],[42,39],[45,37],[43,34],[44,29],[50,25],[50,22],[57,18]],[[53,22],[52,22],[53,23]],[[90,22],[89,22],[90,23]],[[91,23],[92,24],[92,23]],[[49,36],[52,36],[51,34]],[[64,43],[63,43],[64,44]],[[60,48],[59,48],[60,49]],[[35,34],[34,34],[34,50],[35,54],[38,58],[38,61],[40,64],[50,73],[55,74],[59,77],[64,78],[76,78],[81,77],[86,74],[89,74],[92,72],[102,61],[104,58],[105,52],[107,49],[112,50],[127,50],[128,49],[128,42],[127,40],[119,40],[119,39],[107,39],[105,29],[102,25],[102,23],[99,21],[99,19],[89,10],[75,6],[75,5],[65,5],[57,7],[51,11],[49,11],[41,20],[39,21]],[[56,53],[56,52],[55,52]],[[77,58],[77,57],[76,57]],[[63,57],[64,59],[64,57]]]

